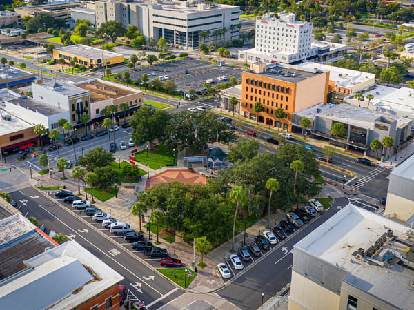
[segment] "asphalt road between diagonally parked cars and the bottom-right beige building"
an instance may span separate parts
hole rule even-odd
[[[233,302],[241,309],[258,309],[262,304],[262,293],[264,293],[264,302],[266,302],[290,282],[293,263],[293,255],[290,251],[293,245],[347,204],[348,198],[337,198],[331,209],[324,214],[319,214],[310,223],[279,242],[269,251],[270,253],[262,256],[259,263],[235,276],[226,287],[217,291],[219,296]]]

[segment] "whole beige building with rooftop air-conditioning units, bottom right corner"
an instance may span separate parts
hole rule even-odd
[[[294,246],[288,309],[413,309],[412,238],[409,227],[346,205]]]

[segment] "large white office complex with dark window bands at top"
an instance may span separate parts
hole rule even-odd
[[[97,28],[106,21],[121,21],[126,28],[136,25],[148,40],[163,37],[168,44],[186,49],[202,43],[239,38],[239,6],[204,1],[96,1]],[[226,29],[220,35],[215,30]],[[199,38],[199,31],[210,31],[210,37]]]

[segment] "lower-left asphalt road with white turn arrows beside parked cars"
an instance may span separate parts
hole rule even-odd
[[[92,221],[89,217],[84,218],[86,216],[83,215],[81,218],[77,211],[71,211],[68,207],[39,195],[32,187],[23,188],[10,195],[17,201],[23,216],[35,216],[48,233],[52,230],[69,236],[121,273],[125,277],[121,284],[128,288],[132,301],[144,301],[150,309],[158,309],[183,293],[143,264],[142,260],[132,254],[130,247],[124,247],[117,242],[120,237],[108,236],[100,231],[99,225],[90,223]]]

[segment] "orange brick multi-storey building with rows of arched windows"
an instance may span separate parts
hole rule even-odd
[[[243,117],[264,125],[291,131],[292,115],[319,103],[326,103],[329,72],[297,70],[290,66],[253,63],[253,72],[242,74]],[[264,111],[255,112],[255,103],[262,103]],[[282,108],[286,118],[276,118],[275,111]]]

